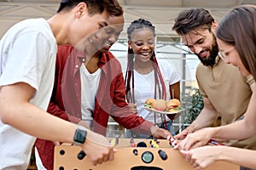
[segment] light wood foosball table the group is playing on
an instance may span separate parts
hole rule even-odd
[[[93,166],[86,156],[81,156],[80,146],[55,146],[55,170],[193,170],[179,150],[166,139],[109,139],[118,151],[113,161]],[[214,146],[212,146],[214,147]],[[82,152],[83,153],[83,152]],[[239,166],[217,161],[206,170],[238,170]]]

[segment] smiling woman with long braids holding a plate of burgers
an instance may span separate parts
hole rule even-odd
[[[174,66],[158,62],[155,53],[155,28],[143,19],[134,20],[127,29],[128,62],[125,72],[127,101],[137,107],[137,115],[168,129],[174,135],[172,117],[143,109],[146,99],[180,99],[180,78]],[[131,134],[130,134],[131,133]],[[131,136],[130,136],[131,135]],[[148,138],[147,135],[127,131],[126,137]]]

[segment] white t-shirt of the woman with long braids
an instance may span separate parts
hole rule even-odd
[[[177,74],[176,68],[168,61],[158,61],[160,72],[166,85],[166,99],[170,99],[169,86],[179,82],[180,77]],[[135,102],[137,105],[137,116],[143,116],[143,119],[154,122],[154,113],[143,109],[146,99],[154,98],[154,71],[147,75],[141,75],[134,71],[134,86],[135,86]],[[155,123],[163,122],[160,114],[155,114]],[[166,116],[166,121],[170,119]]]

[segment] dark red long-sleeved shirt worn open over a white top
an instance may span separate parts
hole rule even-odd
[[[59,46],[55,85],[48,112],[69,122],[78,123],[82,117],[79,67],[84,61],[84,54],[73,50],[71,46]],[[103,53],[98,66],[102,71],[93,112],[93,131],[106,135],[108,118],[112,116],[114,121],[125,128],[149,134],[149,128],[154,124],[131,113],[125,101],[125,82],[118,59],[110,52]],[[44,167],[53,169],[53,142],[37,139],[35,145]]]

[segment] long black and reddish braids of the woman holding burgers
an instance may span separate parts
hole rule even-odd
[[[128,40],[131,41],[131,33],[137,29],[149,28],[153,31],[155,37],[155,28],[148,21],[143,19],[134,20],[131,25],[127,28]],[[160,73],[160,68],[155,58],[155,53],[153,52],[150,60],[153,63],[154,68],[154,99],[159,97],[159,99],[166,99],[166,86],[163,77]],[[127,55],[127,67],[125,72],[125,93],[127,101],[130,103],[135,103],[134,97],[134,53],[132,48],[128,47]],[[157,95],[158,94],[158,95]]]

